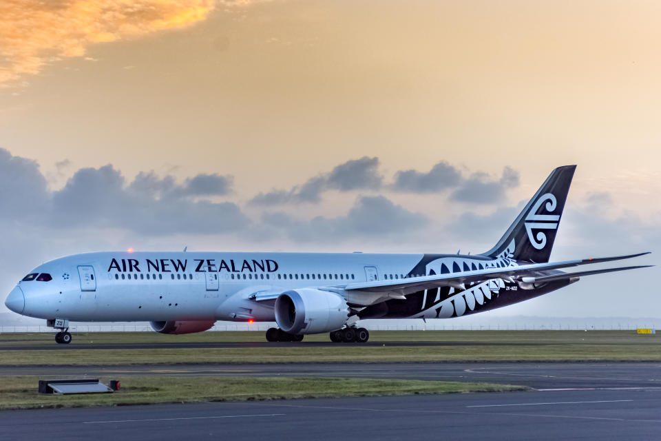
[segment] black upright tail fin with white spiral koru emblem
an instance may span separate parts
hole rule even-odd
[[[544,263],[549,261],[576,165],[554,170],[496,246],[483,256]]]

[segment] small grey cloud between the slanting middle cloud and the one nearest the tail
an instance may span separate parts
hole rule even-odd
[[[402,170],[395,174],[391,187],[396,192],[436,193],[455,187],[461,183],[461,172],[452,165],[441,161],[427,173],[417,170]]]

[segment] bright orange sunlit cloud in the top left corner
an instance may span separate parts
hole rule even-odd
[[[204,20],[213,0],[2,0],[0,85],[38,74],[92,43],[183,28]]]

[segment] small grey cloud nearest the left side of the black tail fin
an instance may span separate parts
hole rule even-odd
[[[476,172],[463,179],[459,187],[450,194],[450,198],[463,203],[497,203],[505,198],[505,191],[516,187],[518,182],[518,172],[510,167],[505,167],[503,175],[497,180],[486,173]]]

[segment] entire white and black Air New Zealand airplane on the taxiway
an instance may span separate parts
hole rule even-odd
[[[10,292],[12,311],[45,318],[72,341],[70,321],[148,321],[162,334],[216,320],[275,322],[269,342],[329,333],[366,342],[367,318],[453,318],[512,305],[583,276],[565,272],[648,253],[549,262],[576,165],[558,167],[503,237],[482,254],[94,252],[39,265]]]

